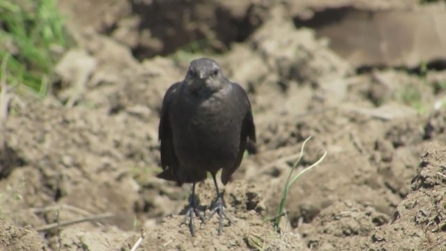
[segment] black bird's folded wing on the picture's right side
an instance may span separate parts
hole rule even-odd
[[[248,144],[248,140],[255,147],[256,142],[256,127],[254,126],[254,118],[252,116],[251,102],[249,102],[246,91],[238,84],[233,84],[234,86],[234,96],[238,97],[240,100],[240,104],[245,105],[247,107],[246,114],[243,119],[242,129],[240,130],[240,146],[238,150],[237,159],[235,165],[231,169],[223,169],[222,170],[222,183],[226,185],[233,172],[240,166],[242,162],[243,155],[245,153],[245,149]]]

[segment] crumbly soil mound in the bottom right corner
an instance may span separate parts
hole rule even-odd
[[[445,153],[445,146],[427,144],[410,192],[392,217],[369,204],[336,201],[295,230],[312,250],[441,250]]]

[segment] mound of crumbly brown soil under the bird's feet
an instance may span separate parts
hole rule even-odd
[[[217,236],[218,217],[215,215],[206,224],[200,225],[195,220],[197,235],[190,237],[189,229],[185,225],[178,226],[183,215],[169,215],[163,218],[160,225],[147,228],[144,232],[146,238],[140,246],[141,250],[180,249],[203,250],[212,247],[215,250],[260,249],[260,250],[307,250],[299,234],[277,234],[272,229],[272,223],[263,220],[259,212],[263,211],[261,194],[257,185],[249,185],[245,181],[235,181],[224,190],[226,213],[233,219],[233,224],[224,220],[224,229],[221,236]],[[208,180],[197,187],[200,204],[209,214],[208,205],[215,198],[213,182]],[[139,235],[135,234],[123,245],[129,250],[137,241]]]

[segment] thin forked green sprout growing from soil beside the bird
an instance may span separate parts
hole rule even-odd
[[[293,178],[291,178],[294,170],[296,169],[296,167],[298,167],[300,160],[302,159],[303,153],[304,153],[304,149],[305,149],[305,144],[307,144],[308,140],[311,139],[312,137],[307,137],[307,139],[305,139],[305,141],[302,144],[302,148],[300,149],[300,155],[298,160],[296,160],[294,162],[293,167],[291,168],[289,174],[288,174],[288,178],[286,178],[286,183],[284,186],[284,194],[282,195],[282,199],[280,201],[279,204],[279,210],[277,211],[277,215],[274,217],[274,227],[276,230],[279,229],[279,225],[280,225],[280,220],[282,219],[282,216],[285,215],[285,206],[286,206],[286,198],[289,195],[290,192],[290,188],[291,186],[298,181],[298,179],[300,178],[300,176],[302,176],[302,174],[305,174],[305,172],[308,172],[309,170],[311,170],[313,167],[316,167],[317,165],[321,164],[321,162],[323,161],[323,159],[325,158],[325,156],[327,155],[327,151],[325,151],[322,155],[321,158],[319,158],[318,161],[314,162],[314,164],[310,165],[309,167],[303,169],[302,171],[300,171],[298,174],[296,174],[296,176],[294,176]]]

